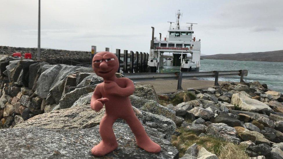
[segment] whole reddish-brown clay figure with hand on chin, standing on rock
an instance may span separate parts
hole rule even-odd
[[[100,121],[99,133],[102,141],[91,149],[95,156],[104,156],[118,146],[113,123],[116,119],[124,119],[135,134],[137,145],[150,153],[158,153],[161,147],[153,142],[135,115],[129,96],[135,91],[133,82],[128,78],[117,78],[119,61],[111,52],[99,52],[92,59],[94,72],[104,79],[96,86],[90,100],[91,109],[100,111],[105,104],[105,115]],[[102,98],[103,97],[103,98]]]

